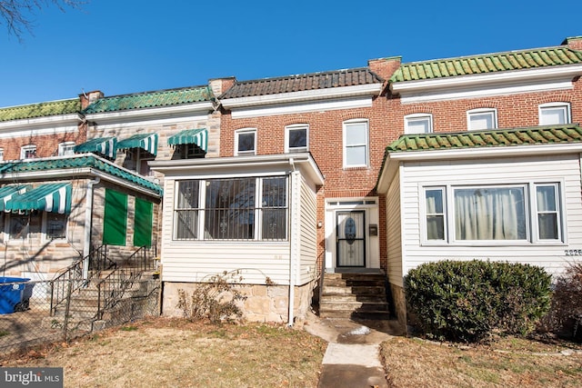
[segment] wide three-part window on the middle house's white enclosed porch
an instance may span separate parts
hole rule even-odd
[[[286,177],[179,181],[176,186],[175,240],[286,240]]]

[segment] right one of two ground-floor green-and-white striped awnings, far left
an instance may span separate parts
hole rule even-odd
[[[42,210],[49,213],[71,213],[71,184],[41,184],[25,194],[6,201],[6,210]]]

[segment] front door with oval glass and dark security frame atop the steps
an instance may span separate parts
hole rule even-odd
[[[366,219],[364,211],[337,212],[337,266],[366,266]]]

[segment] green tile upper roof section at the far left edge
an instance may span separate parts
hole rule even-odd
[[[78,98],[40,104],[9,106],[0,109],[0,122],[54,116],[58,114],[74,114],[80,111],[81,101]]]

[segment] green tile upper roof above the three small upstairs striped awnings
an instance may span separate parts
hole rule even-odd
[[[85,114],[127,111],[152,107],[213,101],[214,95],[208,86],[160,90],[133,95],[115,95],[100,98],[85,108]]]

